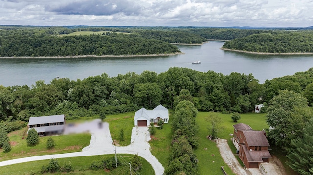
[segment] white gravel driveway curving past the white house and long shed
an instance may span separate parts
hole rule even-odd
[[[112,145],[113,140],[109,130],[109,123],[103,122],[101,128],[95,127],[98,126],[98,123],[99,121],[95,120],[93,122],[76,125],[75,127],[66,130],[68,133],[82,131],[82,129],[91,132],[90,145],[83,148],[81,152],[18,158],[2,161],[0,162],[0,166],[51,158],[114,154],[114,145]],[[164,167],[156,157],[151,154],[150,145],[148,143],[149,140],[150,133],[148,132],[147,127],[134,127],[132,130],[131,144],[128,146],[116,147],[116,153],[138,154],[138,156],[143,157],[152,165],[156,175],[162,175]]]

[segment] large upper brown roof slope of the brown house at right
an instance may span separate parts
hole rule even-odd
[[[243,131],[248,146],[270,146],[263,131]]]

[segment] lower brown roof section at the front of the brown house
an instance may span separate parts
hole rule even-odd
[[[248,162],[263,162],[262,158],[271,158],[268,150],[266,151],[249,151],[246,145],[243,145],[243,150],[245,152]]]

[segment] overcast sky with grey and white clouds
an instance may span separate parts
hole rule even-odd
[[[313,26],[313,0],[0,0],[0,25]]]

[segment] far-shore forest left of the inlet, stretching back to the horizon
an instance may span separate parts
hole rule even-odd
[[[169,43],[202,44],[208,39],[231,40],[263,31],[193,27],[0,26],[0,29],[0,57],[169,54],[180,52]],[[104,32],[102,35],[60,36],[77,31]],[[126,32],[128,34],[123,34]]]

